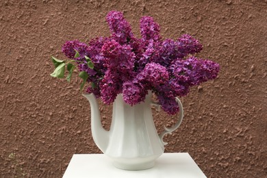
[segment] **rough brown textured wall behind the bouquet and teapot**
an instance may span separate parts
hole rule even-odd
[[[0,177],[62,177],[74,153],[100,153],[79,79],[50,77],[49,58],[63,57],[66,40],[108,36],[110,10],[123,11],[138,35],[143,15],[164,38],[192,34],[204,44],[199,56],[221,66],[183,99],[166,152],[190,153],[207,177],[266,177],[266,0],[0,1]],[[106,127],[110,109],[101,105]],[[159,131],[175,119],[154,116]]]

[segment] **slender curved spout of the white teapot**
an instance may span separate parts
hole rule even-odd
[[[109,131],[106,131],[101,124],[100,111],[97,99],[93,93],[83,94],[83,96],[86,97],[86,99],[88,99],[90,103],[92,138],[94,139],[95,144],[97,144],[97,147],[99,147],[99,149],[103,153],[105,153],[107,145],[109,143],[110,133]]]

